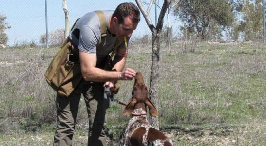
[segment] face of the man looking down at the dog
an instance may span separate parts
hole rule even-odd
[[[124,23],[117,24],[115,26],[116,36],[118,37],[119,41],[123,41],[124,37],[131,37],[133,30],[137,28],[137,23],[132,22],[131,16],[127,16],[124,20]]]

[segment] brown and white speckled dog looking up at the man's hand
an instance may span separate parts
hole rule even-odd
[[[123,146],[148,146],[152,143],[155,146],[172,146],[171,140],[164,133],[149,124],[147,106],[150,115],[158,115],[157,109],[148,98],[148,89],[144,84],[142,73],[137,72],[132,99],[124,110],[124,114],[131,114],[132,118],[123,136]]]

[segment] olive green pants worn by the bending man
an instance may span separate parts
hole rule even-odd
[[[54,146],[71,146],[75,132],[81,94],[87,106],[89,118],[88,146],[106,146],[105,113],[103,105],[103,83],[82,80],[69,97],[57,94],[57,127]]]

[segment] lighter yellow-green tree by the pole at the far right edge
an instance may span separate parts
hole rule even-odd
[[[245,41],[261,39],[263,36],[261,2],[261,0],[243,0],[241,9],[243,21],[235,31],[242,32]]]

